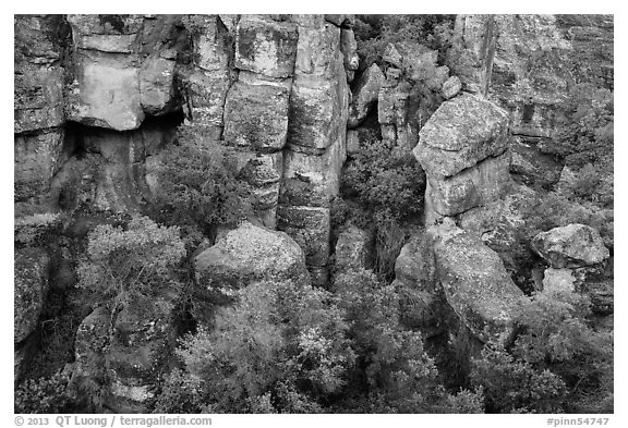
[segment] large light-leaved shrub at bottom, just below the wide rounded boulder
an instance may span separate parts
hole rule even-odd
[[[310,412],[345,384],[347,329],[328,292],[262,282],[238,292],[179,355],[209,386],[215,412]]]

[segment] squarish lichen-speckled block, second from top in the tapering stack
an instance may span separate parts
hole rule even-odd
[[[225,140],[253,151],[283,148],[288,131],[289,89],[235,82],[225,105]]]

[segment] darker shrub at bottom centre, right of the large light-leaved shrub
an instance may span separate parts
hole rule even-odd
[[[424,413],[445,396],[434,360],[419,332],[399,322],[399,296],[366,270],[340,274],[335,289],[351,322],[358,372],[351,391],[363,394],[367,412]]]

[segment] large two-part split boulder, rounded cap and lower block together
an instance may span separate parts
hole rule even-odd
[[[510,184],[508,115],[462,94],[430,118],[413,154],[427,175],[426,224],[486,205]]]

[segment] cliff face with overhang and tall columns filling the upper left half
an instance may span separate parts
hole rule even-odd
[[[87,181],[74,204],[136,210],[154,184],[152,157],[183,112],[183,126],[237,148],[261,222],[292,235],[324,282],[357,69],[350,25],[324,15],[17,16],[15,203],[24,213],[56,210]],[[312,197],[280,198],[295,185]]]

